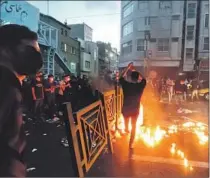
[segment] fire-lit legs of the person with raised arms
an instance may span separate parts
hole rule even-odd
[[[131,125],[132,125],[132,129],[131,129],[131,136],[130,136],[130,145],[134,142],[135,136],[136,136],[136,123],[137,123],[137,119],[138,119],[138,115],[139,112],[126,112],[123,111],[122,112],[123,117],[124,117],[124,122],[125,122],[125,131],[128,132],[128,127],[129,127],[129,119],[131,119]]]

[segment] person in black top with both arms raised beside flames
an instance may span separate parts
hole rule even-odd
[[[133,69],[133,63],[130,63],[120,75],[120,84],[122,86],[124,101],[122,114],[125,121],[125,132],[129,133],[129,119],[131,118],[132,130],[129,142],[129,148],[133,148],[136,134],[136,122],[139,115],[140,101],[146,87],[146,79],[134,69],[131,72],[131,80],[125,79],[129,70]]]

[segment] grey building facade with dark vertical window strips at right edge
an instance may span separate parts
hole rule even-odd
[[[187,1],[183,71],[209,72],[209,2]],[[200,66],[200,67],[199,67]]]

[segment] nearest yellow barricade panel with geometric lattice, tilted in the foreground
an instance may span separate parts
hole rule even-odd
[[[74,116],[71,104],[67,104],[64,118],[68,117],[68,140],[72,162],[76,162],[76,177],[84,177],[95,163],[103,149],[111,148],[109,130],[104,117],[101,101],[97,101],[78,111]]]

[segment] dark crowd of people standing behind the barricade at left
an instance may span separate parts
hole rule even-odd
[[[108,77],[109,78],[109,77]],[[38,72],[34,77],[23,81],[23,105],[25,112],[34,120],[57,122],[63,103],[70,102],[73,112],[100,99],[101,89],[96,79],[64,75],[55,80],[50,74],[47,79]],[[107,83],[112,85],[110,79]]]

